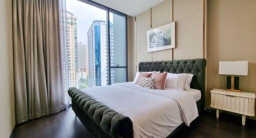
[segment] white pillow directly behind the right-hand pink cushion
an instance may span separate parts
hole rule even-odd
[[[184,89],[187,74],[168,73],[165,81],[166,87]]]

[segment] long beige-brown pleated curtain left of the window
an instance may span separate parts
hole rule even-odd
[[[58,0],[12,0],[16,122],[64,108]]]

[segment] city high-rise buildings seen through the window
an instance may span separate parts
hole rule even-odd
[[[84,44],[77,42],[77,20],[76,15],[66,11],[69,85],[78,88],[107,85],[106,22],[93,20],[87,32],[88,43]],[[112,32],[112,23],[110,24]],[[112,36],[111,33],[110,49],[113,51]],[[113,64],[113,58],[111,59],[110,63]],[[113,77],[113,70],[110,73]],[[113,78],[111,80],[113,81]]]

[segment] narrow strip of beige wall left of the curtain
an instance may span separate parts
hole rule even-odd
[[[0,4],[0,137],[9,137],[15,125],[11,0]]]

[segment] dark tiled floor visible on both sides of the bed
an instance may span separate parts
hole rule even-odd
[[[18,125],[13,137],[91,137],[75,117],[71,107],[57,114],[44,116]],[[244,129],[241,117],[204,111],[189,127],[183,127],[173,137],[256,137],[256,121],[247,119]]]

